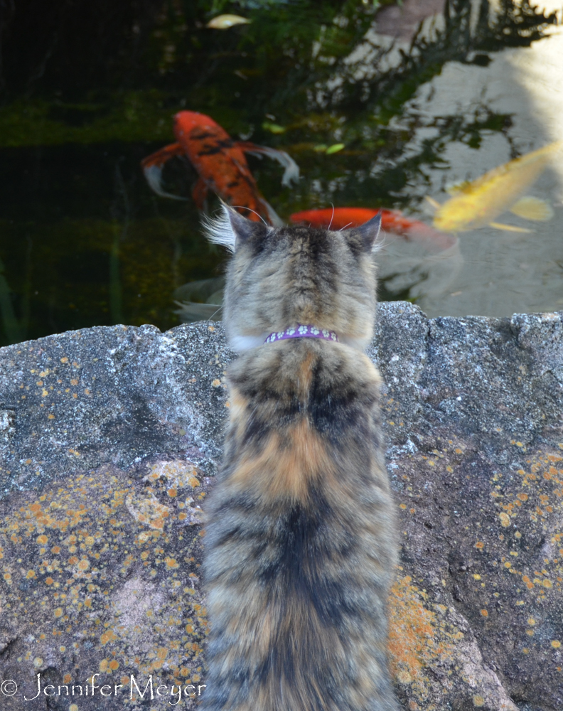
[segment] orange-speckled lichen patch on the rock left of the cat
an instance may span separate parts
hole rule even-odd
[[[176,467],[202,498],[193,471]],[[199,528],[179,525],[167,481],[151,483],[102,467],[0,502],[3,612],[32,640],[22,674],[48,659],[65,683],[83,683],[65,652],[77,645],[102,674],[156,671],[170,685],[181,666],[203,673]]]

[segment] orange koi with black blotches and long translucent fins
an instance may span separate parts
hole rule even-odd
[[[176,200],[186,199],[166,193],[162,187],[162,169],[166,161],[174,156],[186,157],[198,171],[192,197],[199,210],[203,210],[208,191],[213,191],[249,220],[263,218],[271,225],[283,224],[258,190],[245,153],[269,156],[278,161],[285,169],[281,178],[281,184],[285,186],[299,178],[299,167],[288,154],[249,141],[233,141],[212,118],[196,111],[176,114],[174,135],[177,143],[165,146],[141,161],[146,180],[155,193]]]

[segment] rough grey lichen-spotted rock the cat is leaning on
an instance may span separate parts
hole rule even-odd
[[[560,710],[563,313],[381,304],[369,353],[400,511],[404,708]],[[203,323],[0,349],[3,710],[191,708],[213,683],[200,502],[233,357]]]

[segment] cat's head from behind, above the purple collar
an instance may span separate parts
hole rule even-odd
[[[223,321],[236,351],[296,324],[336,331],[366,348],[375,319],[373,250],[379,216],[351,230],[273,228],[223,205],[208,224],[211,242],[234,254],[227,267]]]

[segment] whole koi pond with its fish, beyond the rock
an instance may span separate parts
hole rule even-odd
[[[4,4],[0,345],[220,317],[226,255],[201,219],[216,193],[240,198],[224,161],[202,166],[193,136],[175,136],[180,112],[242,151],[267,220],[320,225],[328,210],[341,228],[382,208],[381,300],[429,316],[563,309],[549,3]]]

